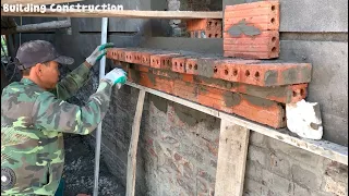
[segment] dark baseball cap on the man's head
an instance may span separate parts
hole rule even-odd
[[[56,61],[60,64],[73,64],[74,59],[61,56],[57,52],[53,45],[46,40],[32,40],[24,42],[19,48],[15,63],[19,70],[26,70],[37,63]]]

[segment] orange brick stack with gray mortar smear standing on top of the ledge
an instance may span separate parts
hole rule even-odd
[[[279,57],[278,1],[227,5],[224,16],[225,57],[274,59]]]

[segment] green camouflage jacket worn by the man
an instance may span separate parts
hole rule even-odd
[[[1,195],[53,195],[64,163],[63,133],[86,135],[109,107],[111,85],[100,83],[84,107],[64,100],[86,84],[84,64],[52,91],[27,78],[7,86],[1,96]]]

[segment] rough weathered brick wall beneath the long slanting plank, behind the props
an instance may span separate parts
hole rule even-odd
[[[129,86],[116,91],[117,117],[104,124],[104,160],[123,182],[136,97]],[[220,120],[148,94],[143,114],[139,195],[214,195]],[[347,196],[347,173],[344,164],[251,132],[244,195]]]

